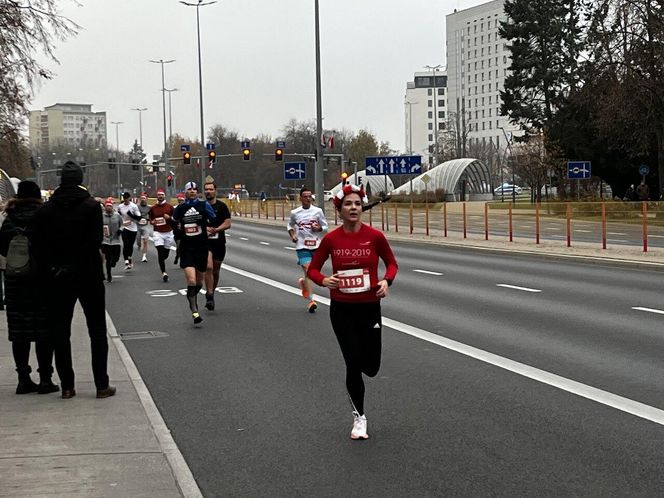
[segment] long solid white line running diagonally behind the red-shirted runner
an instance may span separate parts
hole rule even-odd
[[[223,268],[227,271],[237,273],[238,275],[251,278],[258,282],[262,282],[272,287],[276,287],[277,289],[281,289],[283,291],[290,292],[291,294],[300,296],[299,288],[296,289],[295,287],[282,284],[281,282],[277,282],[276,280],[272,280],[267,277],[262,277],[254,273],[250,273],[248,271],[235,268],[233,266],[228,266],[226,263],[223,264]],[[328,298],[321,296],[316,296],[316,302],[319,304],[324,304],[326,306],[329,306],[330,304],[330,300]],[[616,410],[629,413],[631,415],[634,415],[636,417],[645,420],[650,420],[651,422],[654,422],[659,425],[664,425],[664,410],[660,410],[659,408],[655,408],[650,405],[646,405],[644,403],[639,403],[638,401],[634,401],[629,398],[624,398],[622,396],[618,396],[617,394],[613,394],[608,391],[603,391],[602,389],[597,389],[596,387],[592,387],[587,384],[582,384],[581,382],[577,382],[575,380],[567,379],[560,375],[547,372],[546,370],[540,370],[539,368],[531,367],[524,363],[510,360],[509,358],[504,358],[502,356],[489,353],[488,351],[484,351],[482,349],[475,348],[473,346],[468,346],[466,344],[453,341],[451,339],[434,334],[432,332],[428,332],[426,330],[419,329],[417,327],[413,327],[411,325],[398,322],[396,320],[392,320],[391,318],[383,317],[383,325],[398,332],[402,332],[412,337],[422,339],[423,341],[427,341],[432,344],[436,344],[443,348],[449,349],[450,351],[455,351],[470,358],[475,358],[476,360],[483,361],[485,363],[494,365],[498,368],[502,368],[509,372],[513,372],[515,374],[527,377],[534,381],[541,382],[542,384],[547,384],[549,386],[558,388],[570,394],[574,394],[576,396],[580,396],[582,398],[595,401],[605,406],[610,406],[612,408],[615,408]]]

